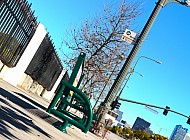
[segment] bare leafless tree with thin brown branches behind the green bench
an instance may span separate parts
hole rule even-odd
[[[73,68],[74,58],[80,52],[86,53],[86,73],[80,88],[92,94],[93,99],[98,98],[107,84],[102,94],[104,98],[118,74],[123,64],[118,56],[127,57],[131,50],[131,45],[121,40],[121,36],[126,28],[134,28],[134,21],[141,13],[141,3],[137,2],[123,1],[115,7],[105,6],[104,13],[87,19],[80,29],[68,32],[69,39],[63,40],[61,49],[66,46],[72,52],[63,57],[68,69]]]

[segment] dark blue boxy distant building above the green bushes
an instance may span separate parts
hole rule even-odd
[[[148,130],[149,127],[150,127],[150,124],[149,122],[145,121],[144,119],[140,118],[140,117],[137,117],[135,123],[133,124],[133,127],[132,129],[133,130]]]

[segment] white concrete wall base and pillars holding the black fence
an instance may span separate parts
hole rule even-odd
[[[51,91],[45,90],[42,85],[40,85],[37,81],[34,81],[31,76],[24,73],[46,34],[47,31],[44,26],[39,24],[34,36],[14,68],[8,68],[0,61],[0,78],[13,86],[21,87],[28,92],[42,96],[47,100],[51,100],[66,72],[66,69],[62,70]]]

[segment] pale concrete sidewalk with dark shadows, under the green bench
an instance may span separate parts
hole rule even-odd
[[[0,81],[0,140],[100,140],[102,138],[71,126],[59,131],[61,121],[45,110],[49,103]]]

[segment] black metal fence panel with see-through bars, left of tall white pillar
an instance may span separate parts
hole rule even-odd
[[[26,0],[0,0],[0,59],[14,67],[38,23]]]

